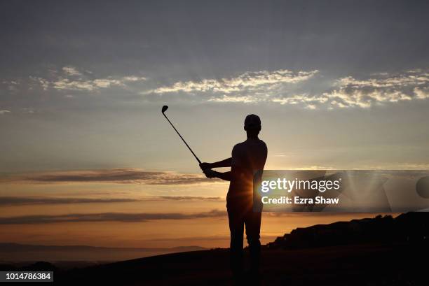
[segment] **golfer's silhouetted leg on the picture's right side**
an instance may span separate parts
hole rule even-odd
[[[249,210],[245,216],[247,243],[249,244],[251,271],[257,274],[261,261],[261,241],[259,234],[261,232],[261,212]]]

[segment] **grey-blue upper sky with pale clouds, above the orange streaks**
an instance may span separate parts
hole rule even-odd
[[[268,166],[428,162],[425,1],[4,1],[0,171],[198,171],[261,115]]]

